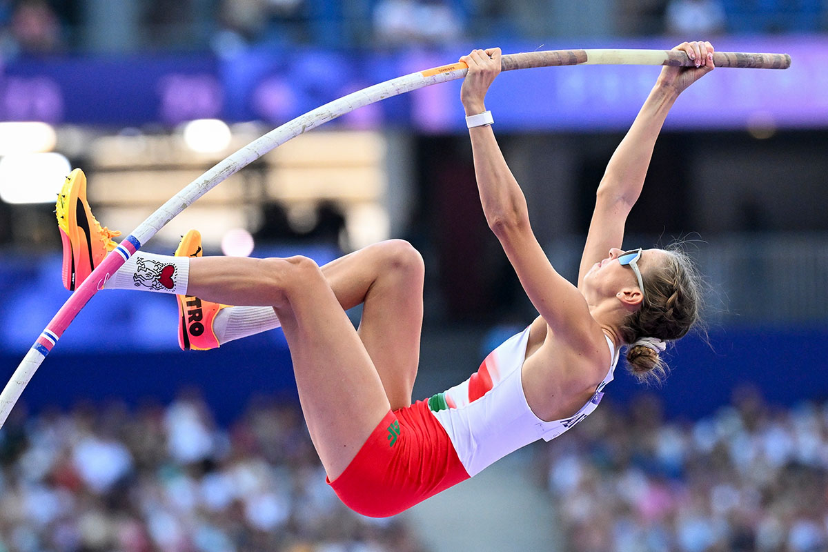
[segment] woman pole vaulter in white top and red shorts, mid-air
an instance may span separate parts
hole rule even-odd
[[[474,50],[461,89],[480,201],[539,316],[468,380],[412,404],[423,264],[391,240],[317,266],[306,257],[200,257],[191,231],[175,257],[137,252],[105,287],[179,295],[182,348],[218,347],[282,326],[310,437],[331,487],[367,516],[391,516],[526,444],[554,439],[598,405],[619,349],[639,377],[660,377],[664,342],[698,319],[697,273],[677,249],[623,251],[627,215],[667,112],[713,70],[709,42],[676,46],[695,60],[665,67],[596,194],[577,286],[547,260],[484,107],[500,50]],[[64,283],[74,289],[115,246],[86,202],[80,170],[57,204]],[[345,310],[363,304],[359,329]],[[248,306],[227,306],[248,305]]]

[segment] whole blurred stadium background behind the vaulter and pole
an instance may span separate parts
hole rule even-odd
[[[787,52],[718,70],[668,118],[628,246],[683,237],[709,341],[659,389],[623,370],[574,432],[410,512],[325,486],[278,331],[181,353],[170,297],[105,292],[0,430],[0,550],[828,550],[828,2],[0,0],[0,374],[68,297],[54,195],[89,176],[128,232],[239,146],[322,103],[456,60],[578,47]],[[503,74],[498,139],[552,262],[573,277],[595,187],[658,74]],[[474,187],[459,83],[358,110],[264,156],[146,250],[325,262],[383,238],[426,258],[415,398],[532,319]],[[354,319],[359,313],[354,313]]]

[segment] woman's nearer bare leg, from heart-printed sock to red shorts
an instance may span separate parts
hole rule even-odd
[[[391,405],[353,324],[315,262],[191,259],[190,293],[221,303],[270,303],[291,350],[306,424],[328,477],[348,466]]]

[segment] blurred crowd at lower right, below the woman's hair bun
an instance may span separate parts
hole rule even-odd
[[[695,423],[663,422],[655,399],[601,405],[545,448],[566,550],[828,550],[828,403],[733,404]]]

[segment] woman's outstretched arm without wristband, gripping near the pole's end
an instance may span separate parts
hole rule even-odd
[[[710,42],[683,42],[673,50],[686,51],[696,67],[665,67],[615,150],[598,186],[584,255],[580,261],[578,286],[590,266],[607,257],[611,247],[621,247],[624,223],[638,200],[650,165],[652,148],[667,113],[681,91],[714,69]]]

